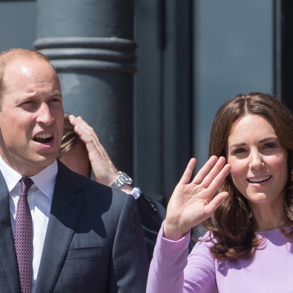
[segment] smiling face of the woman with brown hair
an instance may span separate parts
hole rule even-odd
[[[251,205],[283,199],[288,152],[265,118],[249,114],[236,120],[226,148],[233,183]]]

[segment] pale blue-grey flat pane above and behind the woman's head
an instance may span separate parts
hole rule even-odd
[[[194,8],[194,146],[198,168],[207,159],[208,134],[230,96],[273,91],[271,0],[198,0]]]

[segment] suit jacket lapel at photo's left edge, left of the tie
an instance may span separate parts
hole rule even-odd
[[[20,280],[10,220],[9,192],[0,171],[0,259],[12,292],[20,292]]]

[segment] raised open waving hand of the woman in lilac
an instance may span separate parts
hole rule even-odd
[[[221,192],[214,197],[231,169],[224,157],[212,156],[190,181],[195,166],[196,159],[192,158],[169,200],[164,222],[168,239],[182,238],[192,227],[209,218],[228,196],[227,192]]]

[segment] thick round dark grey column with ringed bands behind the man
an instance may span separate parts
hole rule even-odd
[[[134,0],[37,0],[34,45],[57,68],[66,112],[132,174]]]

